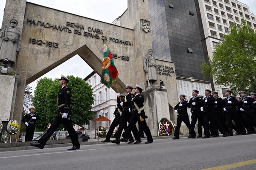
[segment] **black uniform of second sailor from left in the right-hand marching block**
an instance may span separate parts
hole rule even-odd
[[[195,105],[192,105],[192,102],[195,102]],[[191,126],[189,129],[189,134],[192,137],[195,137],[195,124],[198,120],[198,135],[202,135],[202,125],[204,125],[204,115],[201,111],[201,107],[204,105],[203,99],[199,96],[191,97],[189,100],[189,107],[191,107]]]

